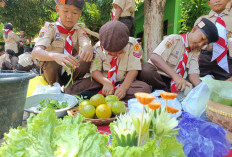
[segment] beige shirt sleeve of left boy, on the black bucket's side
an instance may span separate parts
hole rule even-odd
[[[35,46],[44,46],[49,47],[53,41],[53,36],[55,34],[55,29],[49,23],[46,23],[45,26],[40,30],[39,38],[37,39]]]

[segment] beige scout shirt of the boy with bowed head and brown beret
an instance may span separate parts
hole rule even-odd
[[[142,69],[140,61],[142,57],[142,48],[135,38],[129,38],[129,43],[123,51],[124,53],[118,55],[119,63],[116,82],[123,81],[128,71]],[[100,42],[94,46],[94,53],[96,53],[96,56],[92,61],[90,72],[92,73],[95,70],[99,70],[107,77],[108,71],[111,68],[110,62],[113,56],[108,55],[108,52],[100,46]]]

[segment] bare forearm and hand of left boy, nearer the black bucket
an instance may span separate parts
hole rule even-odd
[[[33,59],[38,59],[39,61],[55,61],[67,70],[70,70],[67,65],[75,69],[79,66],[78,60],[72,55],[49,52],[45,50],[44,46],[35,46],[31,55]]]

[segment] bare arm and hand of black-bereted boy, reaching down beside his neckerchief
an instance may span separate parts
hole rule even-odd
[[[158,67],[159,69],[161,69],[163,72],[165,72],[168,76],[170,76],[171,78],[173,78],[176,87],[178,90],[180,91],[184,91],[186,86],[189,86],[190,88],[192,88],[192,84],[188,81],[186,81],[185,79],[183,79],[182,77],[180,77],[164,60],[163,58],[156,54],[153,53],[151,55],[151,61],[152,63]]]

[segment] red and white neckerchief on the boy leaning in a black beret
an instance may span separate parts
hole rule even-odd
[[[182,42],[183,42],[184,47],[185,47],[185,42],[187,40],[187,34],[181,34],[181,37],[182,37]],[[178,75],[180,75],[180,77],[184,76],[184,72],[186,69],[187,62],[188,62],[188,55],[189,55],[188,53],[191,52],[189,47],[185,47],[185,50],[186,51],[183,54],[181,61],[179,62],[177,69],[176,69],[176,73]],[[179,90],[176,89],[176,84],[175,84],[175,81],[173,79],[171,80],[171,92],[180,92]]]

